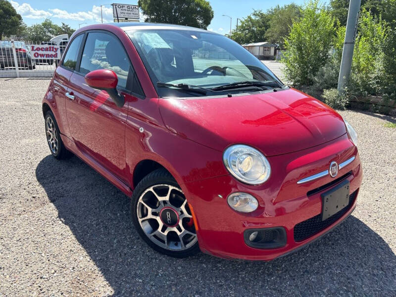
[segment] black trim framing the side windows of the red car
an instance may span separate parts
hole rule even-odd
[[[145,91],[143,90],[142,83],[140,82],[139,77],[138,77],[137,74],[136,74],[135,68],[134,68],[134,66],[133,66],[133,64],[132,64],[132,61],[131,61],[131,59],[130,59],[130,57],[129,57],[129,54],[128,54],[127,50],[125,49],[125,47],[124,47],[124,45],[122,44],[121,40],[120,40],[114,33],[110,32],[110,31],[107,31],[107,30],[98,30],[98,29],[97,29],[97,30],[87,30],[87,31],[84,31],[83,33],[81,33],[81,34],[85,34],[85,36],[83,37],[83,40],[82,40],[82,42],[81,42],[80,49],[79,49],[79,52],[78,52],[77,63],[76,63],[76,69],[75,69],[75,70],[72,70],[72,69],[70,69],[70,68],[68,68],[68,67],[64,67],[64,68],[66,68],[67,70],[73,71],[73,73],[75,73],[75,74],[77,74],[77,75],[81,75],[81,76],[85,76],[85,75],[86,75],[86,73],[80,72],[80,64],[81,64],[81,58],[82,58],[82,55],[83,55],[85,43],[86,43],[86,41],[87,41],[87,37],[88,37],[88,34],[89,34],[89,33],[104,33],[104,34],[109,34],[109,35],[113,36],[113,37],[119,42],[120,46],[124,49],[125,54],[126,54],[126,56],[128,57],[128,60],[129,60],[129,62],[130,62],[130,65],[131,65],[131,68],[132,68],[132,71],[133,71],[133,73],[132,73],[132,75],[131,75],[132,78],[130,79],[130,78],[128,77],[127,84],[131,84],[131,82],[133,83],[134,77],[135,77],[135,75],[136,75],[136,78],[137,78],[137,80],[138,80],[138,82],[139,82],[139,84],[140,84],[140,89],[142,90],[143,95],[142,95],[142,94],[134,93],[134,92],[132,91],[132,90],[133,90],[133,85],[130,85],[130,86],[129,86],[130,89],[126,89],[126,88],[122,88],[122,87],[117,86],[116,90],[117,90],[117,91],[120,91],[120,92],[123,92],[123,93],[126,93],[126,94],[129,94],[129,95],[132,95],[132,96],[134,96],[134,97],[136,97],[136,98],[139,98],[139,99],[145,99],[145,98],[146,98]],[[79,34],[79,35],[81,35],[81,34]],[[77,35],[77,36],[79,36],[79,35]],[[77,37],[77,36],[76,36],[76,37]],[[75,38],[73,38],[73,40],[74,40],[74,39],[75,39]],[[65,56],[65,54],[64,54],[63,56]],[[62,57],[62,58],[63,58],[63,57]],[[63,63],[63,60],[62,60],[62,63]]]

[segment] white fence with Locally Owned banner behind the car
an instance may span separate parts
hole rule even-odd
[[[0,41],[0,77],[52,77],[66,43]]]

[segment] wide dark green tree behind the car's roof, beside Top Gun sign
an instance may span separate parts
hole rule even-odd
[[[206,29],[213,9],[206,0],[139,0],[146,22],[185,25]]]

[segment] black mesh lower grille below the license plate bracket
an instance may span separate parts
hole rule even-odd
[[[353,205],[353,202],[356,198],[356,193],[357,193],[357,191],[355,191],[351,195],[349,195],[349,203],[348,203],[347,207],[344,207],[339,212],[333,214],[331,217],[327,218],[326,220],[322,221],[322,214],[320,213],[310,219],[307,219],[305,221],[302,221],[301,223],[298,223],[294,227],[294,240],[296,242],[303,241],[303,240],[315,235],[316,233],[322,231],[323,229],[326,229],[327,227],[332,225],[334,222],[336,222]]]

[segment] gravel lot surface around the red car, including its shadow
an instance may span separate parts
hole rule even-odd
[[[49,154],[48,79],[0,79],[0,296],[396,296],[395,118],[341,114],[359,136],[353,215],[271,262],[151,250],[129,198],[76,157]]]

